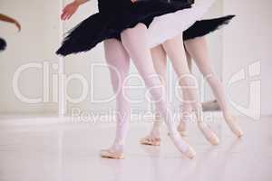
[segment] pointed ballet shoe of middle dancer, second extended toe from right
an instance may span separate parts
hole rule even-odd
[[[211,129],[209,129],[209,126],[207,124],[205,124],[203,121],[199,121],[198,127],[210,144],[214,146],[219,145],[218,136]]]

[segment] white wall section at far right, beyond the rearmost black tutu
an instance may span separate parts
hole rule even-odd
[[[270,0],[224,1],[224,14],[238,16],[224,30],[223,80],[227,85],[237,72],[245,71],[245,79],[230,88],[230,99],[238,108],[235,110],[246,115],[250,112],[258,114],[257,104],[260,104],[262,115],[272,114],[271,7]],[[249,90],[249,86],[253,86],[252,90]]]

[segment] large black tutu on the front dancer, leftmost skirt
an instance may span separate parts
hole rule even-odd
[[[93,14],[78,24],[64,38],[56,52],[66,56],[71,53],[86,52],[96,44],[110,38],[120,39],[123,30],[136,24],[151,24],[153,18],[190,8],[193,0],[99,0],[99,13]]]

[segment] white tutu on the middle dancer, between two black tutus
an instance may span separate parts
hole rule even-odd
[[[155,17],[148,29],[149,46],[153,48],[183,33],[192,24],[201,20],[215,1],[195,0],[189,9]]]

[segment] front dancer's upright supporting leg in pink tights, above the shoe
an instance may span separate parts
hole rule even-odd
[[[111,72],[112,88],[116,94],[116,136],[112,148],[122,150],[131,118],[131,103],[126,99],[124,81],[130,71],[130,56],[116,39],[104,41],[106,62]]]

